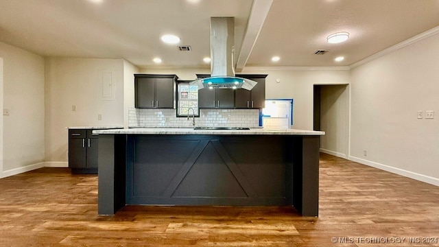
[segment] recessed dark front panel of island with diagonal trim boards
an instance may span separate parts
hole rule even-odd
[[[281,136],[134,135],[128,141],[134,152],[126,204],[285,205]]]

